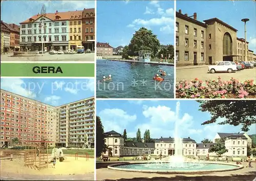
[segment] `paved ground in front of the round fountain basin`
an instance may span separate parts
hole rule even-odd
[[[233,164],[235,164],[233,162]],[[244,166],[247,163],[242,163]],[[235,171],[212,172],[202,174],[160,174],[125,172],[101,168],[96,170],[97,180],[197,180],[197,181],[227,181],[227,180],[253,180],[256,176],[256,164],[252,168],[243,168]]]

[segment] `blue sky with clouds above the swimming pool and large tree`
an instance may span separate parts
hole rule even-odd
[[[125,46],[141,27],[174,44],[174,1],[97,1],[97,41]]]

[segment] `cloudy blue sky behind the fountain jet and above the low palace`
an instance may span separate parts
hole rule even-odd
[[[201,125],[210,118],[208,112],[199,111],[199,103],[193,100],[180,101],[97,101],[97,116],[101,118],[104,131],[115,130],[128,137],[136,137],[138,128],[141,134],[150,129],[151,138],[174,137],[175,123],[179,137],[190,137],[197,142],[204,138],[212,140],[217,132],[242,132],[241,126],[209,124]],[[178,116],[177,116],[178,115]],[[256,132],[252,125],[249,134]]]

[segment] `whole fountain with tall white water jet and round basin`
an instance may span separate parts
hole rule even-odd
[[[176,121],[174,131],[175,154],[162,160],[152,158],[145,163],[121,163],[108,166],[109,169],[132,172],[149,173],[203,173],[203,172],[222,172],[242,169],[242,165],[199,162],[199,160],[188,159],[183,156],[183,140],[179,135],[181,120],[179,119],[180,102],[176,104]],[[166,160],[166,161],[163,161]]]

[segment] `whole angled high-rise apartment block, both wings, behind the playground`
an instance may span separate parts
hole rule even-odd
[[[10,145],[13,138],[21,145],[47,140],[52,146],[75,146],[78,135],[78,145],[85,139],[90,145],[94,142],[94,98],[54,107],[1,89],[0,131],[1,147]]]

